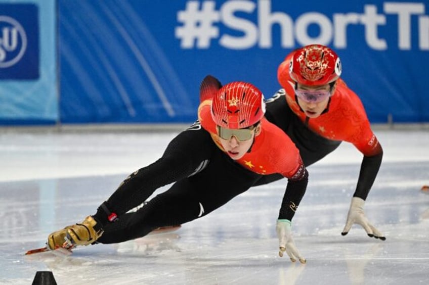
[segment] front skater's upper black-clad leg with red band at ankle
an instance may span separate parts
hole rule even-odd
[[[137,207],[157,188],[199,171],[209,160],[213,148],[216,146],[210,134],[201,125],[194,124],[170,141],[160,159],[122,181],[106,201],[107,208],[119,216]],[[96,215],[101,215],[100,208]]]

